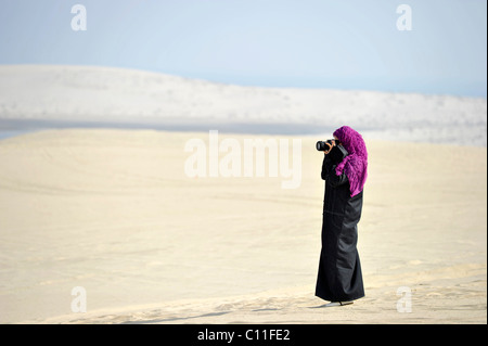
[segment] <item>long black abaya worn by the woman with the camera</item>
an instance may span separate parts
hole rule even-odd
[[[362,192],[350,196],[345,174],[336,176],[335,165],[325,155],[322,164],[325,196],[322,216],[322,249],[316,296],[331,302],[348,302],[364,296],[361,264],[357,251]]]

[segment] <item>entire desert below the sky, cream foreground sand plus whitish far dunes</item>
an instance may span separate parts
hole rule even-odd
[[[0,322],[486,323],[486,112],[480,98],[1,66]],[[314,143],[342,125],[369,151],[365,297],[324,308]],[[189,176],[185,144],[210,130],[287,143],[288,163],[299,140],[299,184],[269,168]]]

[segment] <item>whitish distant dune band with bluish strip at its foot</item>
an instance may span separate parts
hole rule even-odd
[[[95,66],[0,66],[0,130],[73,126],[330,133],[487,145],[485,98],[241,87]]]

